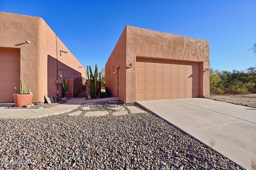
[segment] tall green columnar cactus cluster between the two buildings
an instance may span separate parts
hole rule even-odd
[[[90,71],[90,75],[89,75]],[[100,89],[97,89],[97,79],[98,79],[98,67],[95,65],[94,74],[92,73],[92,68],[87,66],[87,77],[88,77],[88,86],[90,87],[90,95],[92,99],[96,99]]]

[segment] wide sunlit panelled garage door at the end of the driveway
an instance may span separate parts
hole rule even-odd
[[[199,63],[136,58],[136,100],[199,97]]]

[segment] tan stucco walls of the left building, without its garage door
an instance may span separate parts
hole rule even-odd
[[[26,40],[31,43],[26,43]],[[44,102],[44,95],[49,94],[48,88],[56,91],[57,63],[56,67],[50,67],[50,73],[55,72],[55,76],[49,77],[49,55],[56,60],[58,57],[58,69],[62,69],[68,79],[78,75],[86,77],[86,69],[78,68],[81,63],[42,18],[0,12],[0,47],[20,48],[20,78],[26,81],[27,88],[34,94],[32,102]],[[68,54],[60,56],[60,49],[68,51]]]

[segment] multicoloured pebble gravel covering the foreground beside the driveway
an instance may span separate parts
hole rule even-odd
[[[242,169],[151,113],[114,116],[106,102],[97,104],[40,119],[0,120],[0,168]],[[109,114],[85,117],[83,107]],[[68,116],[75,111],[82,114]],[[10,160],[32,164],[4,164]]]

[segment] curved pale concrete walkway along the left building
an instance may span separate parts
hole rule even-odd
[[[59,115],[76,109],[85,99],[85,97],[72,98],[65,104],[44,109],[0,109],[0,119],[35,119]]]

